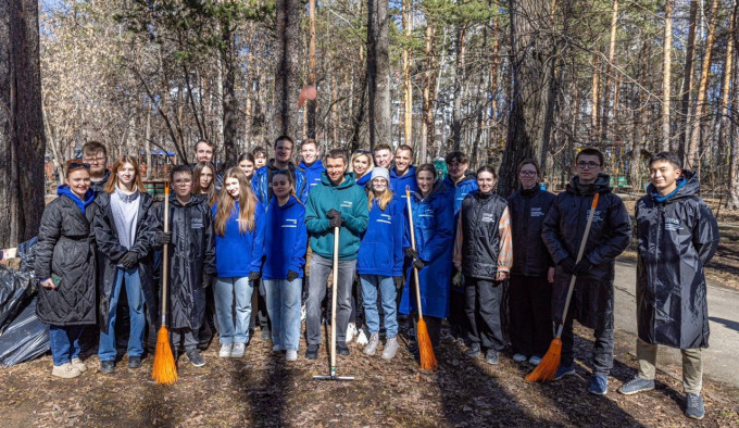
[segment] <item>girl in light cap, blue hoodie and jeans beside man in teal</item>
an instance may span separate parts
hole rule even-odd
[[[379,343],[379,314],[377,289],[379,288],[385,313],[387,341],[383,358],[391,360],[398,351],[398,319],[396,314],[397,289],[403,287],[403,234],[405,217],[402,199],[388,189],[390,173],[377,167],[372,172],[372,190],[367,194],[369,223],[360,244],[356,272],[362,282],[364,316],[369,329],[369,342],[364,347],[366,355],[374,355]]]

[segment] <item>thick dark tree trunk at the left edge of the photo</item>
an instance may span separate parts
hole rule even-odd
[[[0,248],[38,234],[43,212],[43,113],[38,2],[0,2]]]

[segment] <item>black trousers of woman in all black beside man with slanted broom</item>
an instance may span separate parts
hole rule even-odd
[[[552,341],[552,285],[546,277],[512,275],[509,281],[513,352],[541,357]]]

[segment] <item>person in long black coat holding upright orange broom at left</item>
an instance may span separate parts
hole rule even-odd
[[[198,331],[205,311],[205,287],[215,275],[215,239],[208,201],[192,194],[192,171],[188,165],[172,169],[174,194],[170,197],[171,231],[163,231],[164,204],[154,207],[158,249],[170,244],[168,324],[175,349],[185,349],[193,366],[205,365],[198,349]]]

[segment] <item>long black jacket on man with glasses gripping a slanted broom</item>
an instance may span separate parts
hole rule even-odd
[[[584,257],[593,264],[579,275],[572,297],[571,313],[588,328],[613,328],[613,278],[615,259],[631,240],[631,219],[621,198],[611,193],[610,177],[600,174],[596,182],[583,190],[573,177],[566,191],[554,199],[544,217],[541,238],[558,265],[569,256],[577,257],[588,221],[590,204],[600,193]],[[552,315],[562,322],[571,276],[558,266],[552,290]]]

